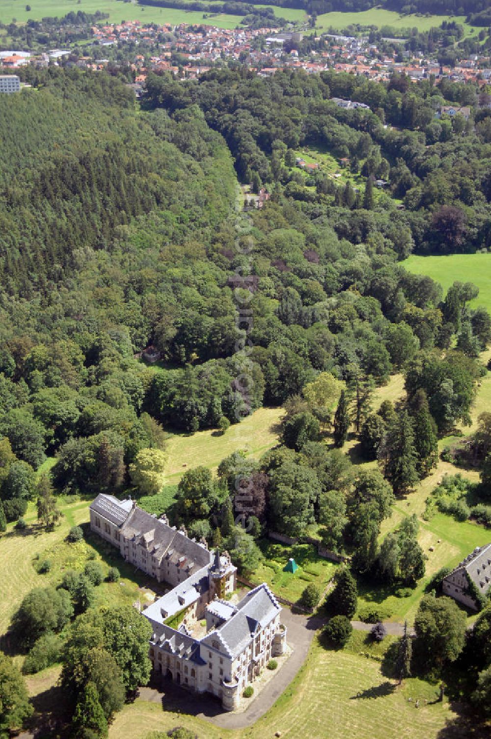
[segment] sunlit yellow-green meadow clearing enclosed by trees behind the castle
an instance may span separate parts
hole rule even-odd
[[[194,434],[174,434],[168,440],[168,463],[165,478],[178,483],[186,469],[205,465],[216,469],[228,454],[245,449],[255,459],[278,443],[281,408],[259,408],[241,423],[230,426],[224,435],[207,429]]]

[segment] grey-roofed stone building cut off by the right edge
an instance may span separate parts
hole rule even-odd
[[[470,583],[473,585],[470,585]],[[491,544],[476,547],[450,574],[443,579],[443,593],[478,610],[473,590],[487,596],[491,587]]]

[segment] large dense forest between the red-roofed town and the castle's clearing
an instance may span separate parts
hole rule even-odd
[[[467,423],[490,318],[467,307],[473,285],[442,300],[439,285],[399,262],[413,249],[490,244],[487,129],[434,115],[443,95],[475,102],[473,88],[224,70],[185,86],[149,75],[146,109],[136,110],[131,89],[106,74],[22,75],[37,89],[0,107],[10,141],[0,153],[10,520],[47,454],[60,489],[124,488],[142,449],[162,446],[159,424],[224,427],[286,403],[286,436],[300,451],[298,437],[316,440],[316,424],[332,420],[305,400],[319,375],[357,399],[358,432],[371,389],[400,369],[415,423],[423,406],[435,432]],[[370,107],[340,109],[332,95]],[[294,149],[307,142],[349,155],[363,191],[295,171]],[[272,192],[247,214],[247,257],[236,173]],[[374,177],[388,177],[390,194],[374,192]],[[238,316],[241,295],[253,296],[251,319]],[[159,372],[134,356],[148,344],[165,362]],[[247,389],[236,379],[244,364]],[[379,435],[382,421],[372,420]],[[425,465],[421,457],[416,477]]]

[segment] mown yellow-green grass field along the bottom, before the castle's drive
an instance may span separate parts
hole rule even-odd
[[[306,663],[292,684],[272,709],[247,729],[221,729],[193,715],[162,711],[160,703],[137,699],[117,714],[109,729],[109,739],[145,739],[148,732],[168,731],[174,726],[192,729],[199,739],[266,739],[274,737],[276,732],[281,732],[283,739],[297,739],[299,735],[306,739],[447,736],[443,729],[452,726],[456,716],[447,701],[430,704],[436,698],[436,687],[415,679],[396,687],[382,675],[377,659],[358,653],[369,651],[362,638],[355,635],[354,641],[340,651],[325,650],[315,639]],[[422,704],[417,710],[416,698]],[[428,700],[428,705],[423,705],[423,698]],[[452,736],[464,739],[466,734]]]

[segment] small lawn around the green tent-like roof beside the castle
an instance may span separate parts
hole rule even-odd
[[[337,565],[318,556],[310,544],[284,545],[264,539],[260,542],[264,562],[250,576],[255,583],[267,582],[272,592],[295,603],[303,590],[314,582],[320,593],[326,590]],[[298,565],[295,573],[284,572],[284,566],[293,557]]]

